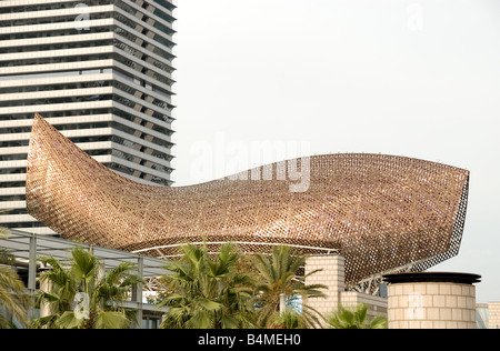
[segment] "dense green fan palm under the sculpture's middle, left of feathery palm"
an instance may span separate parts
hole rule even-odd
[[[166,267],[162,282],[173,293],[159,307],[169,307],[160,328],[242,329],[252,328],[253,278],[238,270],[241,255],[232,243],[210,257],[207,247],[181,247],[182,259]]]

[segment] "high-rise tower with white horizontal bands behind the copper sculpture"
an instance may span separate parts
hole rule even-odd
[[[34,113],[130,179],[171,185],[172,0],[0,1],[0,225],[26,212]]]

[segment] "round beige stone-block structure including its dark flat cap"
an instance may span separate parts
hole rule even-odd
[[[383,277],[389,329],[476,329],[476,287],[469,273],[399,273]]]

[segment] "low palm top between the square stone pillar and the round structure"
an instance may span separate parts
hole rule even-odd
[[[368,304],[360,303],[356,309],[346,309],[339,305],[339,310],[326,318],[327,323],[334,329],[387,329],[388,322],[384,315],[368,319]]]

